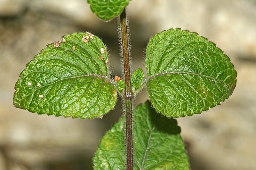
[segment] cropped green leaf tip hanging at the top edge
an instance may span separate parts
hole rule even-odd
[[[87,0],[93,13],[100,19],[109,21],[119,15],[130,0]]]

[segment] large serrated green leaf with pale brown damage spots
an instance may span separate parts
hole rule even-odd
[[[65,35],[26,65],[15,85],[13,104],[38,114],[101,117],[117,99],[106,60],[107,49],[97,36]]]

